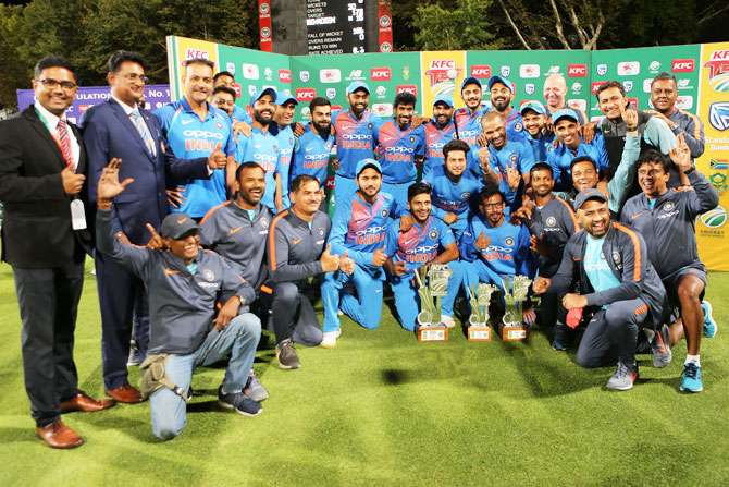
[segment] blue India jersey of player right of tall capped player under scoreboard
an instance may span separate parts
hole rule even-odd
[[[373,133],[382,166],[382,181],[388,184],[415,181],[418,175],[415,157],[425,154],[423,127],[401,130],[393,119],[375,126]]]

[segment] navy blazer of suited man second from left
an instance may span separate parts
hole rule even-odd
[[[149,110],[139,109],[152,136],[156,155],[151,156],[132,119],[113,98],[90,107],[81,118],[79,127],[88,151],[89,197],[97,200],[97,186],[103,168],[116,157],[122,159],[119,180],[133,178],[127,188],[114,198],[113,229],[123,231],[134,244],[151,236],[150,223],[158,231],[168,215],[166,187],[177,181],[208,179],[208,160],[176,159],[168,147],[160,122]]]

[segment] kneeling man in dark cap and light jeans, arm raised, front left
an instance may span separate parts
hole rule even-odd
[[[243,393],[261,337],[260,320],[246,313],[252,288],[221,256],[199,248],[199,227],[187,214],[168,215],[162,221],[160,232],[170,252],[126,245],[114,238],[111,200],[132,182],[120,184],[120,159],[112,159],[98,183],[97,242],[100,252],[141,279],[149,293],[151,338],[143,367],[161,362],[169,382],[151,391],[152,433],[168,440],[182,431],[193,369],[228,355],[219,404],[246,416],[259,414],[258,401]],[[215,313],[217,303],[222,307]]]

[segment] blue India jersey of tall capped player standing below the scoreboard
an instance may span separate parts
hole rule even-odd
[[[332,125],[336,130],[336,157],[339,161],[337,175],[355,179],[357,162],[374,158],[374,130],[382,123],[380,117],[364,111],[357,118],[351,111],[332,113]]]

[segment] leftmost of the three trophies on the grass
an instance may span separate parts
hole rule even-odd
[[[416,271],[418,282],[418,294],[420,295],[420,309],[418,313],[418,341],[446,341],[448,340],[448,328],[441,322],[441,300],[447,294],[448,279],[453,270],[446,264],[433,264],[428,269],[421,266]],[[428,285],[423,284],[428,277]],[[433,297],[437,299],[435,306]]]

